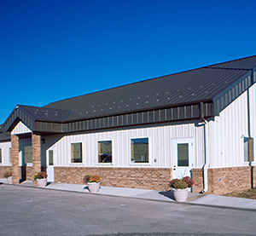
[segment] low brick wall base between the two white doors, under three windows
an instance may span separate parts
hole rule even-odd
[[[102,186],[166,190],[171,168],[55,167],[55,181],[83,184],[85,175],[102,177]]]

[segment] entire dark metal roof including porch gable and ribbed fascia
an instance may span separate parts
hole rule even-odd
[[[33,132],[46,134],[212,117],[256,82],[255,68],[256,55],[43,107],[16,106],[0,129],[9,132],[20,120]]]

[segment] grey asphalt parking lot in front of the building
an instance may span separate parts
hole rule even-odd
[[[256,234],[254,211],[0,185],[0,235]]]

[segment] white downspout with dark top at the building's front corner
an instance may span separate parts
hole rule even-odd
[[[204,124],[204,147],[205,147],[205,164],[203,166],[203,185],[204,188],[200,193],[206,193],[208,190],[208,165],[209,165],[209,156],[208,156],[208,144],[209,144],[209,124],[207,120],[204,118],[204,103],[200,102],[200,116],[201,121]]]

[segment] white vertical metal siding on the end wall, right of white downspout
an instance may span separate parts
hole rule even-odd
[[[247,135],[247,93],[232,102],[210,122],[210,167],[240,166],[243,136]]]

